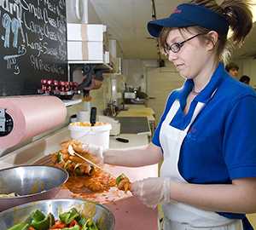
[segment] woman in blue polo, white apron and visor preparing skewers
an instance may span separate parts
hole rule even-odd
[[[183,87],[168,96],[148,146],[84,145],[107,164],[163,160],[160,177],[133,181],[131,192],[149,207],[162,204],[165,230],[253,229],[245,214],[256,212],[256,94],[223,64],[230,43],[241,44],[251,31],[252,17],[246,0],[193,0],[149,21]]]

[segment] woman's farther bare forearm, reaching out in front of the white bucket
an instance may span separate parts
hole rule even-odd
[[[162,158],[162,152],[160,147],[148,144],[148,146],[120,150],[109,149],[103,152],[103,156],[106,164],[139,167],[159,163]]]

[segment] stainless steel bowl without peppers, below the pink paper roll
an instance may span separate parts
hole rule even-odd
[[[19,195],[0,198],[0,211],[35,200],[54,198],[67,179],[67,171],[52,166],[27,165],[0,170],[0,194]]]

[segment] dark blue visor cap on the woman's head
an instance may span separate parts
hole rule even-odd
[[[163,27],[182,28],[188,26],[201,26],[221,35],[227,35],[230,25],[224,16],[211,9],[185,3],[178,5],[168,18],[149,21],[148,32],[153,37],[159,37]]]

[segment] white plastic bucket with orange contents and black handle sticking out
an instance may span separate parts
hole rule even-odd
[[[104,149],[109,148],[109,133],[112,129],[111,124],[97,122],[95,126],[90,123],[75,122],[68,125],[72,139],[83,143],[102,146]]]

